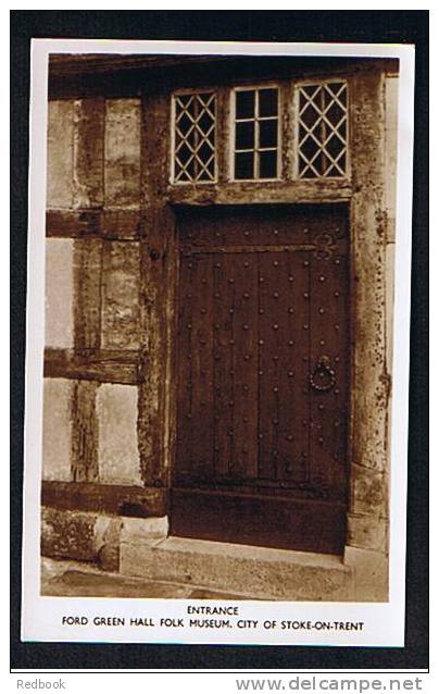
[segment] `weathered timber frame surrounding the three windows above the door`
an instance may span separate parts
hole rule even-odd
[[[290,199],[300,200],[303,195],[314,201],[328,201],[329,199],[348,199],[351,195],[352,171],[352,79],[346,73],[324,76],[316,74],[308,78],[280,78],[276,82],[259,82],[241,85],[209,85],[200,88],[181,88],[170,94],[172,99],[170,125],[171,125],[171,161],[168,176],[168,195],[174,202],[183,202],[200,197],[211,196],[212,201],[224,196],[234,197],[233,190],[242,187],[247,195],[251,191],[263,189],[267,191],[267,201],[276,201],[283,198],[288,188]],[[319,86],[324,84],[343,83],[347,88],[347,147],[346,147],[346,174],[328,176],[299,176],[299,89],[302,86]],[[277,114],[277,176],[275,178],[236,178],[235,177],[235,110],[236,92],[252,91],[275,88],[278,92]],[[181,95],[215,94],[215,178],[211,181],[175,181],[174,149],[175,149],[175,98]],[[254,154],[255,150],[252,151]],[[278,196],[274,190],[278,189]],[[208,193],[208,190],[210,193]],[[271,191],[271,193],[268,193]],[[213,196],[213,197],[212,197]],[[249,200],[250,200],[249,198]]]

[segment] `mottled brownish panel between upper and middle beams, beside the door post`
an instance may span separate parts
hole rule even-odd
[[[139,244],[106,241],[102,265],[102,347],[139,347]]]

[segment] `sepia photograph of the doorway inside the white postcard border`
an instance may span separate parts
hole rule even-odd
[[[39,598],[391,607],[401,47],[48,44]]]

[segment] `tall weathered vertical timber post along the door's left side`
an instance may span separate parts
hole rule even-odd
[[[170,177],[168,95],[142,100],[141,384],[138,436],[146,486],[167,486],[172,457],[172,334],[176,275],[174,213],[166,205]]]

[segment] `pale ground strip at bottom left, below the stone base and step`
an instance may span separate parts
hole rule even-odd
[[[145,581],[101,571],[91,563],[42,558],[41,595],[64,597],[158,597],[251,599],[221,591],[167,581]]]

